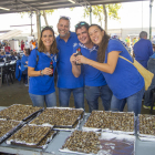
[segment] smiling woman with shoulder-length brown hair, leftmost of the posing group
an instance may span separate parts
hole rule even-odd
[[[46,107],[56,105],[56,96],[54,89],[54,78],[50,63],[53,62],[55,70],[56,65],[56,41],[54,31],[50,27],[45,27],[41,31],[39,49],[31,51],[28,62],[28,75],[30,76],[29,94],[33,106]]]

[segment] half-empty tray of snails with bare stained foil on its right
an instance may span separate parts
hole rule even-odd
[[[59,149],[83,155],[135,154],[135,136],[107,132],[74,131]]]

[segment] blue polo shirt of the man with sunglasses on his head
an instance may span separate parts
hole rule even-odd
[[[74,53],[76,52],[76,49],[79,46],[81,48],[82,55],[84,55],[85,58],[87,58],[90,60],[96,61],[97,46],[94,45],[92,49],[87,49],[82,43],[79,43],[73,49]],[[97,69],[95,69],[89,64],[82,64],[81,66],[82,66],[81,71],[84,75],[84,85],[87,85],[87,86],[106,85],[105,79],[104,79],[103,74],[101,73],[101,71],[99,71]]]

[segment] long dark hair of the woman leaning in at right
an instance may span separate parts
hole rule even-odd
[[[91,24],[90,28],[93,25],[97,27],[101,31],[104,31],[99,24]],[[108,44],[108,40],[110,40],[110,35],[104,31],[104,35],[102,38],[101,44],[97,50],[97,61],[101,63],[103,63],[105,60],[105,51]]]

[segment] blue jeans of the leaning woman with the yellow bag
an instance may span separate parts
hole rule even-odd
[[[126,99],[118,100],[113,95],[112,102],[111,102],[111,110],[123,112],[123,108],[127,102],[128,112],[134,112],[135,115],[137,116],[137,114],[141,113],[142,99],[143,99],[144,92],[145,92],[145,86],[137,93]]]

